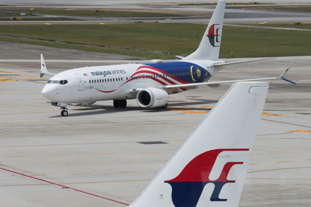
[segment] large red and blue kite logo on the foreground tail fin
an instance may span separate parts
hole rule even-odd
[[[217,156],[223,151],[248,151],[249,149],[216,149],[204,152],[191,160],[169,183],[172,187],[172,201],[175,207],[195,207],[207,183],[214,183],[215,188],[211,194],[211,201],[226,201],[220,199],[219,194],[226,183],[233,183],[235,180],[227,180],[228,173],[233,165],[243,162],[227,162],[218,179],[209,179],[211,170],[216,162]]]

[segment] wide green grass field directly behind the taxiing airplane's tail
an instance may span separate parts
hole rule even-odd
[[[207,25],[189,23],[143,23],[109,25],[2,25],[1,33],[21,37],[166,51],[178,54],[194,52]],[[255,29],[256,27],[254,27]],[[250,28],[224,26],[220,57],[267,57],[311,55],[310,32],[276,29],[248,31]],[[35,31],[35,32],[34,32]],[[54,43],[0,36],[1,41],[39,44],[95,52],[142,56],[151,59],[174,59],[174,55],[117,48]]]

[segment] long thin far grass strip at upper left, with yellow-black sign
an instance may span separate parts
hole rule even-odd
[[[18,9],[21,11],[22,9]],[[14,11],[14,9],[12,9]],[[24,11],[24,10],[23,10]],[[156,13],[156,12],[132,12],[132,11],[110,11],[105,10],[105,12],[93,12],[92,9],[83,9],[83,10],[66,10],[66,9],[25,9],[28,11],[26,16],[32,16],[32,12],[39,12],[39,15],[60,15],[60,16],[100,16],[100,17],[173,17],[173,16],[182,16],[177,14],[167,14],[167,13]],[[3,17],[16,16],[13,14],[0,14]],[[19,16],[19,15],[17,15]]]

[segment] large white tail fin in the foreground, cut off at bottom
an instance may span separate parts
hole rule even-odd
[[[237,207],[268,88],[234,83],[130,207]]]

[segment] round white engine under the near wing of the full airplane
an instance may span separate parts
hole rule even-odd
[[[137,93],[137,103],[142,108],[161,107],[169,101],[169,94],[160,88],[143,88]]]

